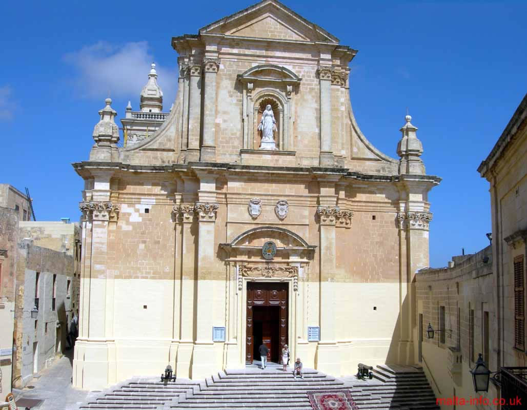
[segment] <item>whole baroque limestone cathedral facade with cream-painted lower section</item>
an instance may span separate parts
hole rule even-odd
[[[416,360],[414,274],[428,191],[411,117],[399,159],[360,132],[356,51],[276,0],[172,38],[179,86],[160,128],[118,147],[100,114],[80,209],[73,383],[200,379],[285,344],[336,376]],[[394,142],[395,145],[395,142]]]

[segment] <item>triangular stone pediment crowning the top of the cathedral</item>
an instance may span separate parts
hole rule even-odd
[[[276,0],[264,0],[201,28],[200,33],[338,43],[337,37]]]

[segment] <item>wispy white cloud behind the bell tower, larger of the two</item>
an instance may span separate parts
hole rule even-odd
[[[122,46],[100,41],[66,54],[64,61],[75,67],[75,85],[83,96],[101,99],[110,92],[112,97],[136,100],[148,81],[150,64],[155,59],[146,41]],[[163,91],[163,105],[170,107],[178,83],[177,70],[175,67],[164,69],[159,64],[155,69]]]

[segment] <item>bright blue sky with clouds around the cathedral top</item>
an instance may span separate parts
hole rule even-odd
[[[4,2],[0,182],[28,187],[37,220],[79,218],[97,111],[118,119],[158,64],[165,109],[177,86],[172,36],[252,1]],[[527,91],[527,2],[285,1],[356,50],[350,94],[363,133],[396,157],[408,107],[428,174],[430,265],[489,242],[489,184],[476,172]]]

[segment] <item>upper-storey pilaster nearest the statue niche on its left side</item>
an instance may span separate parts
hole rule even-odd
[[[217,58],[204,58],[204,97],[203,97],[203,145],[200,160],[216,161],[216,76],[220,66]]]

